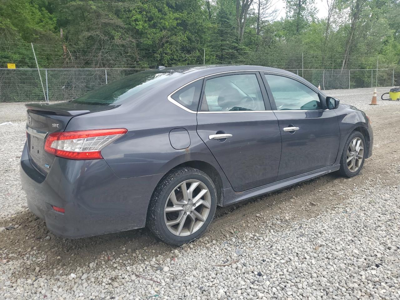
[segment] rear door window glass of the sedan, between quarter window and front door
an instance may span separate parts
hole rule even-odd
[[[206,81],[203,112],[265,110],[256,74],[235,74]]]

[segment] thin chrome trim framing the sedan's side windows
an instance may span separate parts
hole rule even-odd
[[[190,112],[192,114],[215,114],[215,113],[226,113],[226,112],[195,112],[194,110],[190,110],[189,108],[186,108],[185,106],[183,106],[182,104],[180,104],[179,102],[175,101],[174,99],[172,99],[172,95],[175,94],[176,92],[178,92],[178,90],[184,88],[185,86],[197,81],[197,80],[201,80],[207,77],[211,77],[211,76],[215,76],[215,75],[220,75],[220,74],[227,74],[227,73],[238,73],[238,72],[260,72],[260,73],[275,73],[275,74],[280,74],[280,75],[284,75],[284,76],[289,76],[292,77],[296,80],[299,80],[300,82],[302,82],[302,84],[304,84],[305,86],[307,86],[308,88],[311,88],[312,90],[314,90],[317,94],[320,94],[319,90],[309,86],[307,84],[307,82],[303,81],[302,78],[297,78],[295,76],[292,76],[290,74],[285,74],[282,72],[276,72],[276,71],[265,71],[265,70],[235,70],[235,71],[225,71],[225,72],[219,72],[219,73],[214,73],[214,74],[210,74],[210,75],[206,75],[206,76],[202,76],[199,78],[196,78],[190,82],[188,82],[187,84],[184,84],[183,86],[181,86],[180,88],[177,88],[176,90],[174,90],[171,94],[169,94],[167,96],[168,101],[171,102],[172,104],[175,104],[176,106],[182,108],[183,110],[186,110],[187,112]],[[201,96],[201,95],[200,95]],[[282,112],[283,110],[240,110],[240,111],[228,111],[228,112]],[[318,110],[285,110],[288,112],[307,112],[307,111],[311,111],[311,112],[316,112]],[[322,110],[321,110],[322,111]]]

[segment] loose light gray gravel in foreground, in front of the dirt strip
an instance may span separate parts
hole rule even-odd
[[[52,276],[15,279],[15,269],[38,259],[33,250],[3,266],[0,299],[399,299],[399,186],[343,190],[354,191],[340,207],[283,230],[275,216],[242,236],[165,256],[102,253],[73,273],[55,266]]]

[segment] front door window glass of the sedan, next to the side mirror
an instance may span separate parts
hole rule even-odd
[[[297,80],[264,74],[274,96],[277,110],[319,110],[322,109],[318,93]]]

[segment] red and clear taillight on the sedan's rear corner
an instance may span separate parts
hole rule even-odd
[[[125,128],[54,132],[46,138],[44,150],[76,160],[100,159],[102,148],[126,132]]]

